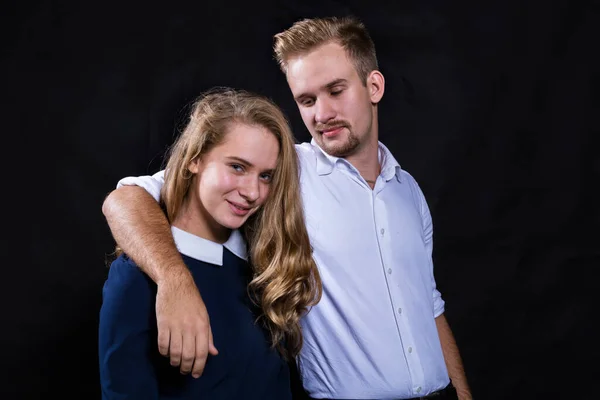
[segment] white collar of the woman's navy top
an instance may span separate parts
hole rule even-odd
[[[232,231],[223,244],[211,242],[174,226],[171,226],[171,232],[179,252],[196,260],[222,266],[223,247],[239,258],[247,259],[246,242],[238,230]]]

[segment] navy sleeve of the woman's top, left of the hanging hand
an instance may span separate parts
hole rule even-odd
[[[149,278],[128,258],[112,263],[98,335],[103,400],[158,399],[155,293]]]

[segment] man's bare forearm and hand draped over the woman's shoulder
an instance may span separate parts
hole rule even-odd
[[[158,285],[158,347],[182,373],[198,377],[217,354],[206,306],[184,264],[158,202],[144,188],[121,186],[102,204],[123,251]]]

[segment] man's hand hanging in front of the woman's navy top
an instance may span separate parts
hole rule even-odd
[[[158,350],[180,366],[182,374],[198,378],[208,354],[219,354],[213,344],[204,301],[191,275],[158,284],[156,296]]]

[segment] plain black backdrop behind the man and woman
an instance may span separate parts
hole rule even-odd
[[[307,140],[272,36],[346,14],[375,41],[380,137],[430,204],[438,286],[476,399],[594,397],[597,1],[2,9],[1,398],[99,398],[97,318],[114,245],[104,197],[160,168],[187,106],[215,85],[270,96]]]

